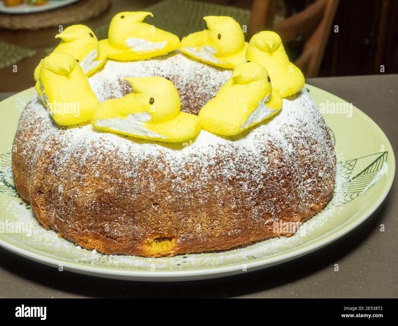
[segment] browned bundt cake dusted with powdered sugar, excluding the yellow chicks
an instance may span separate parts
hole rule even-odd
[[[106,42],[112,44],[111,40]],[[245,46],[250,49],[251,44]],[[224,105],[220,100],[211,101],[233,75],[246,84],[241,85],[241,94],[227,93],[236,98],[226,104],[231,116],[240,114],[233,111],[234,103],[244,96],[246,86],[257,92],[249,88],[246,76],[253,67],[257,74],[257,63],[232,70],[178,50],[146,60],[108,59],[88,78],[99,107],[110,105],[105,113],[116,105],[114,101],[141,92],[129,80],[160,76],[174,84],[181,111],[193,116],[192,121],[203,121],[202,129],[199,127],[190,139],[174,141],[179,140],[175,138],[178,127],[170,141],[156,141],[144,139],[151,134],[133,137],[101,130],[101,125],[96,125],[100,118],[92,123],[55,122],[55,114],[49,114],[43,104],[43,98],[48,101],[49,89],[43,70],[54,67],[49,62],[41,63],[40,74],[35,72],[38,92],[18,123],[12,154],[14,183],[45,228],[57,230],[84,248],[146,257],[225,250],[290,236],[290,230],[275,230],[275,224],[304,222],[332,196],[336,164],[333,142],[320,111],[302,86],[295,94],[284,96],[281,109],[275,104],[272,117],[258,117],[236,135],[227,135],[227,129],[222,135],[222,124],[219,132],[214,132],[211,123],[198,119],[199,111],[209,103],[213,103],[209,110]],[[61,74],[70,74],[71,69],[80,67],[76,64]],[[271,85],[273,76],[261,72],[263,76]],[[154,94],[158,94],[157,85],[155,80]],[[267,87],[269,94],[258,96],[265,99],[260,101],[261,107],[269,109],[274,106],[267,102],[273,97],[271,86]],[[158,96],[168,96],[167,92]],[[272,89],[272,94],[281,98],[276,90]],[[157,101],[158,97],[151,96],[149,104]],[[243,111],[248,116],[256,108]],[[96,114],[101,115],[98,109]],[[69,121],[69,116],[61,118],[61,122]]]

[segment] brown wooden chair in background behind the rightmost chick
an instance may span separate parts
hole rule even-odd
[[[322,62],[326,43],[332,31],[332,22],[339,0],[316,0],[298,14],[273,25],[277,0],[254,0],[248,36],[257,31],[271,29],[287,43],[302,35],[303,51],[295,61],[307,78],[316,77]]]

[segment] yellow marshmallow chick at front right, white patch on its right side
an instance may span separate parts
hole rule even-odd
[[[267,70],[261,64],[245,62],[199,111],[199,119],[203,129],[232,136],[271,117],[281,107],[282,99],[273,91]]]

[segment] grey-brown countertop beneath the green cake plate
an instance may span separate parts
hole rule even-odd
[[[397,148],[398,74],[307,82],[359,107]],[[0,100],[12,94],[0,94]],[[0,297],[398,297],[397,201],[394,183],[369,219],[325,248],[285,264],[220,279],[174,283],[103,279],[61,273],[0,248]],[[380,224],[385,232],[380,232]],[[334,264],[339,264],[338,272]]]

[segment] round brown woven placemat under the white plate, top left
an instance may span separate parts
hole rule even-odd
[[[104,12],[109,0],[80,0],[69,6],[23,15],[0,14],[0,27],[6,29],[41,29],[94,18]]]

